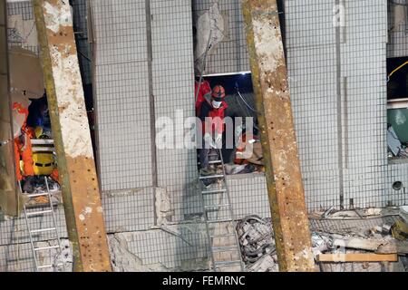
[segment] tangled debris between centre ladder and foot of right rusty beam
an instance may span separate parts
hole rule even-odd
[[[263,259],[265,256],[271,256],[276,252],[270,221],[258,216],[248,216],[238,222],[237,232],[243,261],[248,265],[248,268],[267,267],[268,271],[276,268],[275,264],[271,264],[270,259],[267,259],[266,262],[259,262],[260,264],[266,264],[260,265],[258,263],[257,266],[254,265],[258,260]]]

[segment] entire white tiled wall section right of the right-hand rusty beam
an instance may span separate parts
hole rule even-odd
[[[339,206],[341,192],[345,208],[402,204],[406,198],[393,194],[390,185],[398,175],[390,172],[399,167],[389,169],[386,160],[386,3],[315,2],[285,1],[307,206]],[[337,32],[335,5],[345,8],[345,26]]]

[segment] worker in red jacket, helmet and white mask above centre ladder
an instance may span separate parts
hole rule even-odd
[[[222,134],[224,132],[225,110],[228,108],[224,101],[225,89],[216,85],[212,89],[210,102],[202,102],[199,119],[203,125],[202,148],[199,150],[199,163],[201,175],[209,175],[209,151],[210,149],[221,149]]]

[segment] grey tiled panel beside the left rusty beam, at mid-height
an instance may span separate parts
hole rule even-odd
[[[151,118],[146,62],[96,66],[102,191],[151,186]]]

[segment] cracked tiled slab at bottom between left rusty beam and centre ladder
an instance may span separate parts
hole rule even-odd
[[[109,234],[112,269],[115,272],[209,270],[205,237],[205,225],[197,223]],[[168,255],[163,258],[159,253]]]

